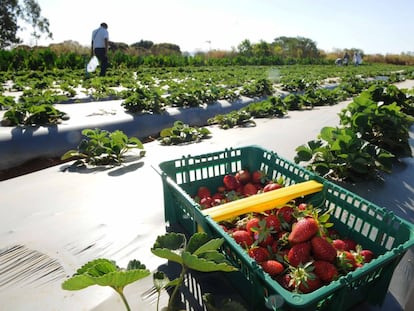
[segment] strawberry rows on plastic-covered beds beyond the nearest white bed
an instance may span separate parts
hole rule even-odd
[[[0,169],[59,157],[87,127],[124,129],[146,139],[184,112],[192,112],[186,122],[203,126],[216,114],[286,94],[300,96],[280,103],[284,110],[309,109],[355,96],[373,79],[398,82],[412,75],[412,68],[393,65],[143,68],[88,79],[82,71],[3,72]],[[283,114],[280,107],[267,116]],[[249,114],[266,116],[259,108]]]

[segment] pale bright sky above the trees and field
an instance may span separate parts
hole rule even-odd
[[[182,52],[232,50],[244,40],[305,37],[319,49],[365,54],[414,51],[412,0],[37,0],[53,40],[90,46],[108,24],[110,41],[173,43]],[[22,34],[24,43],[34,42]]]

